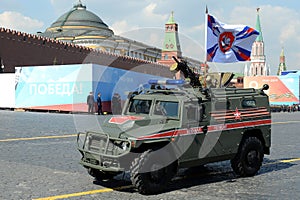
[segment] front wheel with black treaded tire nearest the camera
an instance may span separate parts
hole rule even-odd
[[[166,189],[177,173],[177,161],[170,158],[166,151],[147,150],[134,159],[130,167],[131,182],[140,194],[157,194]]]

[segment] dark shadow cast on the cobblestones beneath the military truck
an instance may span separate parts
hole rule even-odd
[[[291,158],[292,159],[292,158]],[[268,159],[265,158],[263,165],[256,176],[280,171],[296,165],[291,162],[282,162],[286,159]],[[205,166],[180,169],[176,177],[170,183],[170,186],[163,193],[188,189],[193,186],[205,185],[217,182],[236,182],[240,177],[231,169],[229,161],[207,164]],[[103,187],[112,188],[120,192],[136,193],[136,189],[131,185],[129,173],[123,173],[110,181],[94,181],[94,184]]]

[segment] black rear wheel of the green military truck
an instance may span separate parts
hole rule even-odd
[[[240,144],[238,153],[231,160],[233,171],[242,177],[254,176],[264,158],[263,145],[257,137],[247,137]]]

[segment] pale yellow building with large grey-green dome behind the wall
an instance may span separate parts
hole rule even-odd
[[[161,49],[114,34],[97,15],[79,1],[40,36],[95,50],[156,62]]]

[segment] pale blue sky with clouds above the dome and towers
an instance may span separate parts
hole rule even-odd
[[[44,32],[79,0],[0,0],[0,27],[26,33]],[[205,7],[226,24],[255,28],[256,9],[260,22],[267,65],[277,73],[282,48],[288,70],[300,70],[299,0],[81,0],[87,10],[98,15],[116,35],[162,48],[164,24],[172,11],[179,26],[184,56],[204,61]],[[245,64],[210,63],[213,71],[242,73]]]

